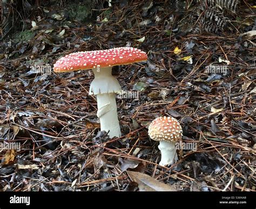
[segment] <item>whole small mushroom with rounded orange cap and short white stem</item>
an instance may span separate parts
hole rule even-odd
[[[173,159],[178,159],[176,142],[181,140],[182,128],[176,119],[164,116],[153,120],[149,126],[149,136],[152,140],[159,141],[160,165],[169,165],[173,163]]]

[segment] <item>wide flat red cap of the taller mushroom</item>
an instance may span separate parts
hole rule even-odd
[[[76,52],[60,58],[54,64],[53,71],[56,73],[79,71],[80,69],[126,65],[145,60],[147,60],[147,54],[133,47]]]

